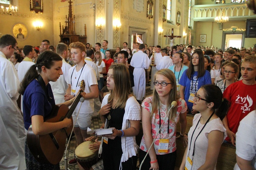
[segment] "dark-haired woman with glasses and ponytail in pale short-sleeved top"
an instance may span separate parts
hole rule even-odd
[[[193,98],[193,109],[200,113],[193,119],[188,132],[188,146],[180,169],[216,169],[221,144],[227,137],[222,124],[229,102],[221,90],[212,84],[202,86]]]

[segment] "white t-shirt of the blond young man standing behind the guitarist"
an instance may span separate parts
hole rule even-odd
[[[84,80],[86,93],[90,93],[90,86],[98,84],[94,69],[89,65],[85,64],[78,72],[75,70],[75,66],[69,69],[68,84],[71,85],[71,95],[76,95],[80,90],[80,82]],[[83,70],[82,70],[83,69]],[[71,78],[72,77],[72,78]],[[72,92],[73,91],[73,92]],[[74,112],[78,112],[80,104],[78,104]],[[80,113],[93,113],[94,112],[94,99],[87,99],[83,102]]]

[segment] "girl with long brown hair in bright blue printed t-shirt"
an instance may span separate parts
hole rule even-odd
[[[197,113],[197,110],[192,109],[195,93],[201,86],[211,83],[210,72],[204,69],[203,52],[202,50],[196,50],[192,54],[188,69],[184,71],[179,81],[179,84],[181,84],[180,96],[185,99],[189,113]]]

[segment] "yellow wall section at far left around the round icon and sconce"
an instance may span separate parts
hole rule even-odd
[[[53,2],[48,1],[43,4],[43,14],[36,15],[30,12],[29,1],[26,3],[19,0],[14,4],[18,7],[18,13],[15,16],[9,16],[0,13],[0,33],[13,35],[12,27],[16,24],[23,24],[27,27],[28,35],[25,40],[20,41],[17,39],[18,47],[25,45],[40,46],[41,41],[48,39],[53,44]],[[43,22],[43,29],[37,31],[33,27],[34,21]],[[13,35],[16,37],[16,35]]]

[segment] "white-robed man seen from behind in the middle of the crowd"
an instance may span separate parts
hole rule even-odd
[[[140,44],[139,51],[134,53],[131,59],[131,66],[134,67],[134,87],[132,91],[138,101],[141,101],[146,94],[146,75],[145,69],[150,66],[150,59],[144,53],[145,45]]]

